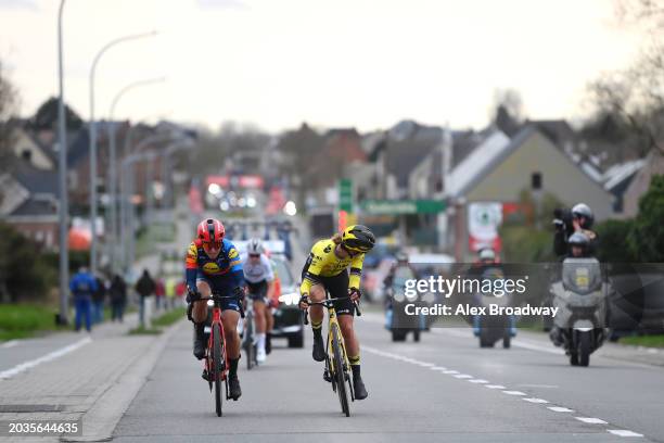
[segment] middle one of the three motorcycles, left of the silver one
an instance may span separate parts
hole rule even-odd
[[[499,267],[487,267],[483,270],[480,280],[481,286],[485,280],[502,280],[505,273]],[[489,292],[475,294],[475,304],[481,307],[489,308],[489,305],[498,305],[500,307],[510,306],[512,295],[507,292]],[[475,315],[473,317],[473,327],[475,336],[480,339],[480,347],[494,347],[497,341],[502,340],[502,347],[511,346],[514,318],[510,315]]]

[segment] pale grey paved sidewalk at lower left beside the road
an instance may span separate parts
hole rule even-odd
[[[132,314],[124,324],[104,324],[89,334],[56,333],[0,349],[3,359],[11,354],[25,355],[26,351],[31,354],[31,362],[43,358],[44,343],[53,344],[48,352],[55,354],[54,358],[15,375],[4,370],[10,376],[0,379],[0,420],[82,419],[84,438],[72,440],[110,436],[125,410],[124,404],[133,398],[166,341],[178,325],[181,326],[176,324],[161,336],[128,336],[129,329],[137,325],[138,315]],[[66,347],[72,345],[73,351],[58,355],[59,349],[67,351]],[[104,401],[104,397],[112,401]],[[100,407],[101,403],[103,407]],[[58,436],[0,436],[1,441],[26,442],[30,439],[40,442],[60,440]]]

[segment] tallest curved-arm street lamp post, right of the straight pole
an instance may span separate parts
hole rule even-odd
[[[92,241],[90,243],[90,270],[92,273],[97,271],[97,125],[94,122],[94,74],[97,72],[97,64],[101,56],[112,47],[125,41],[155,35],[156,31],[133,34],[110,41],[97,53],[92,62],[92,67],[90,68],[90,225],[92,231]]]

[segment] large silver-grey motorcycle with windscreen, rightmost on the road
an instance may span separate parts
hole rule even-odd
[[[588,366],[590,354],[608,337],[609,282],[597,258],[565,258],[561,280],[551,284],[553,318],[551,341],[562,345],[572,366]]]

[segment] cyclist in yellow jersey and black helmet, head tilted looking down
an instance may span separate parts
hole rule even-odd
[[[375,237],[362,225],[353,225],[331,239],[320,240],[309,253],[307,263],[302,269],[302,286],[299,292],[303,299],[320,302],[325,299],[325,290],[330,298],[350,296],[334,305],[341,326],[348,360],[353,370],[353,385],[357,400],[366,398],[368,393],[360,377],[359,342],[353,329],[355,303],[359,301],[359,283],[362,274],[365,254],[373,248]],[[348,275],[347,268],[350,267]],[[306,309],[307,305],[301,303]],[[325,359],[325,347],[322,339],[323,308],[320,305],[310,307],[311,329],[314,331],[314,359]]]

